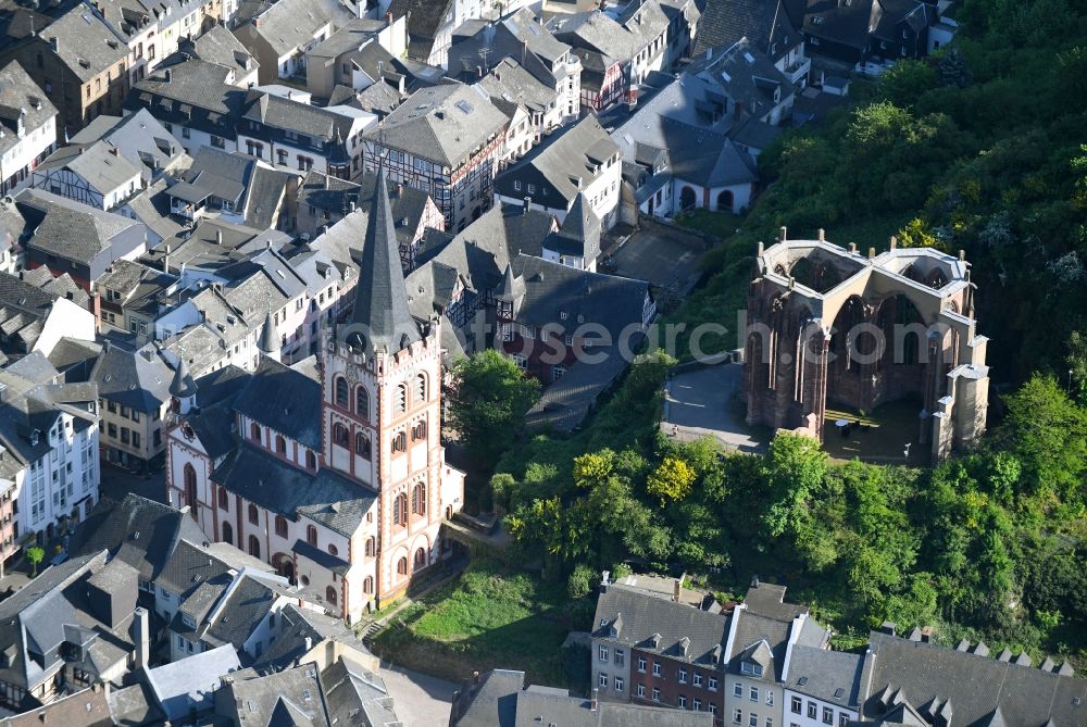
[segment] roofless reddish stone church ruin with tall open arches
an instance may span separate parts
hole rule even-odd
[[[828,403],[872,412],[915,398],[934,461],[985,431],[987,339],[964,256],[867,255],[823,239],[760,243],[747,303],[747,422],[823,440]],[[830,423],[833,426],[833,423]]]

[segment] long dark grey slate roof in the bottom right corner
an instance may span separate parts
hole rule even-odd
[[[875,631],[870,650],[861,677],[867,719],[902,702],[928,722],[934,709],[948,709],[963,727],[991,724],[998,709],[1008,725],[1085,720],[1087,679]]]

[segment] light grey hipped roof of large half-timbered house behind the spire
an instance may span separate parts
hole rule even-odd
[[[372,143],[457,168],[508,123],[483,89],[446,84],[415,91],[364,136]]]

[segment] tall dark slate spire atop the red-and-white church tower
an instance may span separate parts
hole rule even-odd
[[[408,310],[400,245],[380,167],[362,243],[351,326],[348,343],[368,355],[379,349],[395,353],[420,340],[418,326]]]

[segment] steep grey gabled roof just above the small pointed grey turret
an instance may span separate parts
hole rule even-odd
[[[607,168],[608,160],[617,156],[619,151],[600,122],[589,114],[557,131],[499,174],[495,190],[508,198],[529,196],[533,202],[545,206],[569,210],[578,191],[596,180]],[[522,181],[520,190],[515,187],[517,181]],[[542,184],[537,184],[540,181]],[[526,183],[536,186],[536,193],[527,191]]]

